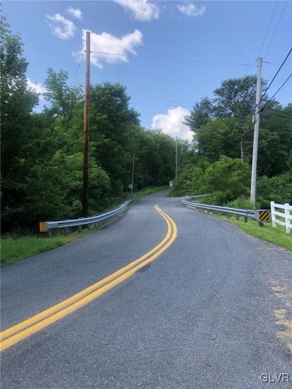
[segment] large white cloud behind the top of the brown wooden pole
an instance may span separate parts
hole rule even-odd
[[[91,32],[90,50],[92,53],[90,54],[90,61],[99,68],[102,68],[103,62],[109,64],[116,62],[128,62],[127,53],[136,54],[134,47],[142,44],[142,37],[143,34],[139,30],[135,30],[134,32],[121,36],[120,38],[107,32],[102,32],[101,34]],[[77,53],[73,53],[75,57],[81,58],[86,49],[86,30],[82,31],[82,42],[82,50]],[[98,54],[94,52],[113,53],[119,55]]]

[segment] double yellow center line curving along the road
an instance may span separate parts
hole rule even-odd
[[[90,301],[99,297],[109,289],[114,288],[116,285],[131,277],[137,270],[152,262],[161,253],[163,253],[175,240],[177,227],[174,221],[166,215],[166,213],[163,212],[158,205],[155,206],[155,209],[167,223],[167,234],[156,247],[135,261],[129,263],[127,266],[122,267],[120,270],[115,271],[115,273],[105,277],[101,281],[98,281],[81,292],[56,305],[53,305],[51,308],[43,310],[43,312],[38,315],[34,315],[31,318],[0,332],[1,351],[49,326],[64,316],[69,315],[71,312],[81,308],[83,305],[88,304]]]

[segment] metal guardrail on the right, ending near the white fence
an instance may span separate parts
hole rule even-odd
[[[204,196],[207,196],[207,195],[191,196],[187,199],[181,200],[181,203],[184,204],[187,208],[191,208],[191,209],[203,209],[203,210],[206,209],[206,210],[210,210],[210,211],[218,211],[221,213],[226,213],[227,217],[229,217],[229,215],[231,213],[237,215],[237,219],[239,216],[243,216],[245,222],[247,222],[248,217],[259,220],[257,218],[257,213],[259,211],[254,211],[251,209],[238,209],[238,208],[221,207],[221,206],[217,206],[217,205],[193,203],[191,201],[194,199],[202,198]]]

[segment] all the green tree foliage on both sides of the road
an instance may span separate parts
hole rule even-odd
[[[18,34],[1,18],[2,228],[38,228],[40,220],[78,217],[81,212],[84,99],[68,73],[48,69],[42,112],[27,87],[28,62]],[[212,193],[215,204],[244,202],[252,158],[251,113],[256,78],[222,82],[203,97],[185,121],[192,145],[178,140],[178,180],[173,195]],[[263,82],[263,88],[265,83]],[[265,95],[262,103],[268,99]],[[175,172],[175,140],[140,126],[121,84],[90,86],[89,210],[100,212],[129,195],[133,155],[134,190],[164,186]],[[291,202],[292,104],[275,100],[261,112],[258,188],[262,206]],[[273,111],[280,111],[280,115]],[[283,113],[281,115],[281,112]],[[281,117],[279,117],[281,116]],[[283,117],[282,117],[283,116]]]

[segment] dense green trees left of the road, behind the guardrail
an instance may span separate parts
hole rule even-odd
[[[19,35],[2,19],[1,190],[2,228],[37,228],[40,220],[82,213],[84,99],[68,85],[66,71],[48,69],[48,102],[33,112],[40,96],[27,87],[28,62]],[[175,169],[175,140],[140,126],[139,114],[120,84],[90,87],[89,211],[95,214],[134,189],[168,184]],[[180,156],[189,145],[179,141]]]

